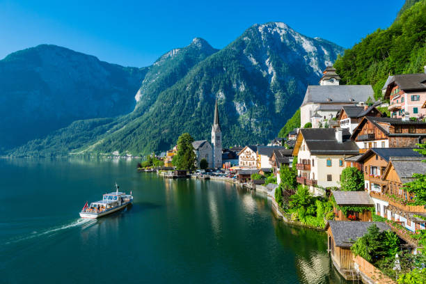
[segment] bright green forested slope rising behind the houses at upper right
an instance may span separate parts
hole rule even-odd
[[[424,71],[426,0],[414,2],[406,1],[388,29],[374,31],[338,58],[334,67],[342,84],[371,84],[380,98],[389,74]]]

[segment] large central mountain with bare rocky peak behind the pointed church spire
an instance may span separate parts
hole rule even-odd
[[[216,97],[224,145],[265,143],[299,108],[306,86],[317,84],[322,70],[342,52],[332,42],[308,38],[280,22],[255,24],[220,51],[196,39],[148,68],[132,113],[75,122],[15,155],[140,154],[170,148],[183,132],[208,139]],[[68,136],[74,136],[72,147]]]

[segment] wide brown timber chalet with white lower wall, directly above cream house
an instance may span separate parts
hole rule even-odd
[[[426,123],[409,118],[379,118],[365,116],[354,129],[351,139],[360,152],[370,148],[416,147],[426,138]]]

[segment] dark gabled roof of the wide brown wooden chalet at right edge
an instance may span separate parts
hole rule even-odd
[[[404,137],[404,136],[413,136],[413,137],[419,137],[419,136],[426,136],[424,133],[390,133],[388,131],[388,128],[390,125],[414,125],[414,126],[422,126],[426,127],[426,123],[420,122],[420,121],[411,121],[411,120],[402,120],[401,118],[376,118],[373,116],[365,116],[363,120],[356,126],[354,129],[354,132],[352,133],[351,139],[355,139],[358,133],[363,129],[363,126],[365,123],[370,121],[374,126],[376,126],[381,132],[386,134],[386,136],[398,136],[398,137]],[[386,123],[388,125],[387,129],[382,127],[380,123]]]

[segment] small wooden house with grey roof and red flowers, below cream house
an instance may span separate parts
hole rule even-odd
[[[371,210],[362,212],[349,210],[342,212],[341,208],[350,207],[370,207],[374,210],[374,202],[366,191],[331,191],[336,200],[334,207],[334,219],[336,221],[372,221]]]

